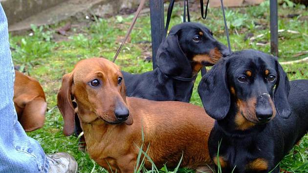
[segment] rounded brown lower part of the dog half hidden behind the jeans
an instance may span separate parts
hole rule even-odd
[[[19,122],[25,131],[33,131],[44,126],[47,104],[44,98],[37,97],[28,102],[19,117]]]

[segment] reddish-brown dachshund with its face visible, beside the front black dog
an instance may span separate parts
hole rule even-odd
[[[88,153],[99,165],[118,173],[132,173],[138,147],[157,168],[181,167],[208,171],[207,141],[214,120],[203,108],[183,102],[156,102],[126,97],[120,69],[109,60],[80,61],[63,77],[58,107],[64,117],[64,134],[74,132],[74,107],[84,131]],[[109,166],[110,165],[110,166]],[[150,162],[145,167],[151,169]]]

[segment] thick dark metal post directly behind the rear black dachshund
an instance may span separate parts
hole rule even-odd
[[[153,69],[156,68],[156,53],[164,37],[164,0],[150,0],[151,38]]]

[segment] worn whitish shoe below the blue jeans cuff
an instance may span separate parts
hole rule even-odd
[[[58,152],[46,157],[49,162],[49,173],[77,173],[78,164],[68,153]]]

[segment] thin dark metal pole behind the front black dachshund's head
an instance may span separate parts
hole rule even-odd
[[[278,9],[277,0],[270,0],[270,52],[278,56]]]

